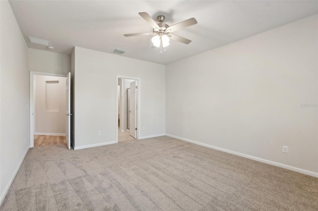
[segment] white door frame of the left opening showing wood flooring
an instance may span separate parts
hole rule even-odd
[[[34,147],[34,75],[68,77],[68,75],[64,74],[30,71],[30,148]]]

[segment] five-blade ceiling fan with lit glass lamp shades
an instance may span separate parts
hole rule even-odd
[[[155,35],[152,38],[153,47],[152,48],[165,48],[169,45],[170,39],[184,43],[189,44],[191,43],[191,40],[188,40],[186,38],[170,34],[171,32],[174,32],[176,30],[192,26],[194,24],[197,24],[197,20],[195,18],[190,18],[188,20],[182,21],[180,23],[174,24],[173,26],[168,26],[167,24],[163,23],[165,17],[163,15],[159,15],[157,18],[159,20],[159,23],[156,23],[156,21],[147,13],[147,12],[139,12],[138,13],[142,18],[144,18],[151,27],[153,27],[153,32],[150,33],[136,33],[136,34],[125,34],[125,37],[132,37],[132,36],[140,36],[140,35]],[[162,51],[161,51],[162,52]]]

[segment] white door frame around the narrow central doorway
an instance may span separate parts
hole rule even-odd
[[[140,90],[141,90],[141,80],[140,78],[135,78],[135,77],[130,77],[130,76],[121,76],[121,75],[116,75],[116,143],[118,143],[118,79],[123,78],[123,79],[130,79],[130,80],[136,80],[137,81],[137,137],[136,140],[139,139],[140,137],[140,111],[141,111],[141,106],[140,106]]]

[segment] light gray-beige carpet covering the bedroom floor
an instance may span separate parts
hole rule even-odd
[[[1,211],[318,210],[318,178],[166,136],[30,149]]]

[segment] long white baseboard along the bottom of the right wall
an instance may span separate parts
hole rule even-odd
[[[249,156],[249,155],[246,155],[246,154],[243,154],[243,153],[238,153],[238,152],[235,152],[235,151],[227,150],[227,149],[220,148],[220,147],[215,147],[215,146],[212,146],[212,145],[209,145],[209,144],[204,144],[204,143],[201,143],[201,142],[197,142],[197,141],[193,141],[193,140],[190,140],[190,139],[181,138],[181,137],[178,137],[178,136],[173,136],[173,135],[170,135],[170,134],[165,134],[165,135],[169,136],[169,137],[172,137],[172,138],[175,138],[175,139],[180,139],[182,141],[186,141],[186,142],[190,142],[190,143],[193,143],[193,144],[197,144],[197,145],[200,145],[200,146],[203,146],[203,147],[208,147],[208,148],[211,148],[211,149],[214,149],[214,150],[219,150],[219,151],[222,151],[222,152],[225,152],[225,153],[230,153],[230,154],[233,154],[233,155],[236,155],[236,156],[240,156],[240,157],[243,157],[243,158],[249,158],[249,159],[252,159],[252,160],[259,161],[259,162],[264,162],[264,163],[267,163],[267,164],[270,164],[270,165],[275,165],[275,166],[286,168],[286,169],[289,169],[289,170],[292,170],[292,171],[296,171],[296,172],[299,172],[299,173],[303,173],[303,174],[307,174],[307,175],[310,175],[310,176],[318,177],[318,173],[317,172],[308,171],[308,170],[305,170],[305,169],[302,169],[302,168],[297,168],[297,167],[294,167],[294,166],[286,165],[286,164],[279,163],[279,162],[274,162],[274,161],[263,159],[263,158],[257,158],[257,157],[254,157],[254,156]]]

